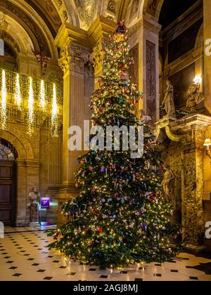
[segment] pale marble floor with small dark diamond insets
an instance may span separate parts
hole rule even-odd
[[[171,263],[122,270],[79,265],[48,251],[51,237],[45,229],[6,228],[4,239],[0,239],[0,281],[211,281],[211,256],[187,253]]]

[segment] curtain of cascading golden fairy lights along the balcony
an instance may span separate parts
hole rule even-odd
[[[2,70],[0,81],[0,129],[6,130],[7,108],[11,107],[8,103],[11,102],[12,98],[16,110],[26,114],[24,116],[25,123],[27,124],[27,133],[30,136],[33,135],[34,128],[39,122],[39,115],[45,114],[51,118],[51,136],[57,137],[58,98],[56,84],[44,82],[44,80],[33,80],[32,77],[22,77],[20,74],[13,72],[9,72],[7,80],[6,72]],[[27,101],[25,101],[26,98]]]

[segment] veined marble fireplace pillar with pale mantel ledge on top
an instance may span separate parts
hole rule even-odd
[[[189,115],[172,123],[173,130],[184,133],[181,139],[181,214],[184,243],[189,249],[201,249],[205,222],[203,216],[203,143],[211,118]]]

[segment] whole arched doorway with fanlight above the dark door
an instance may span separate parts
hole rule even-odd
[[[16,164],[15,147],[0,138],[0,221],[14,225],[16,214]]]

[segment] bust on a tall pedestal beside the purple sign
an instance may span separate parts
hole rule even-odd
[[[39,225],[38,211],[39,211],[39,201],[40,201],[40,192],[37,186],[35,186],[29,194],[30,199],[30,226]]]

